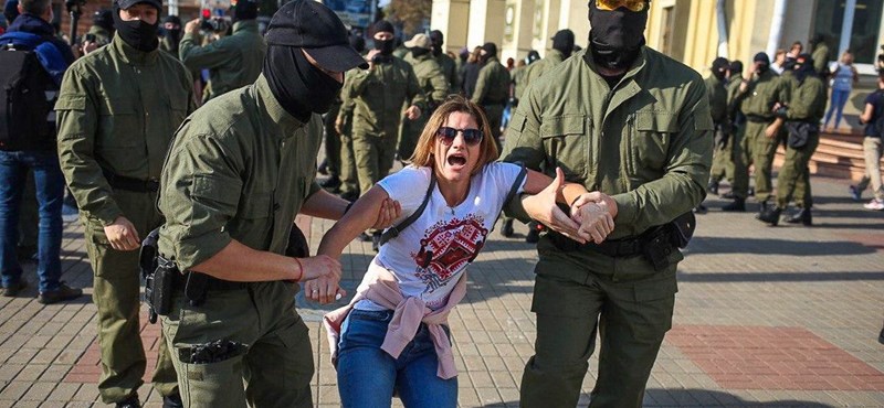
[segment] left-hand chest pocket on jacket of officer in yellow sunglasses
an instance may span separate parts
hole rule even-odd
[[[589,117],[570,115],[544,119],[540,139],[550,167],[559,167],[566,179],[573,181],[586,176],[592,158],[587,133],[591,128]]]

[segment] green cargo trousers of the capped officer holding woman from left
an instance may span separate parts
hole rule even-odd
[[[209,290],[198,307],[182,291],[173,298],[171,313],[162,318],[162,335],[172,345],[186,407],[313,406],[313,350],[295,310],[296,292],[295,283],[273,281]],[[187,355],[215,341],[245,348],[211,363],[182,361],[182,351]]]

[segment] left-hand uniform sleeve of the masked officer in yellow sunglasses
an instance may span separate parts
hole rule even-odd
[[[543,163],[546,158],[546,150],[540,140],[540,104],[535,87],[528,84],[525,89],[524,98],[519,101],[516,111],[509,119],[506,128],[506,140],[501,157],[503,161],[524,165],[532,170],[543,172]],[[522,200],[512,200],[506,204],[504,211],[507,215],[516,217],[523,222],[530,221],[530,217],[522,207]]]

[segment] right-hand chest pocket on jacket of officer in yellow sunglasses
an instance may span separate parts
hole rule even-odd
[[[638,175],[643,169],[662,171],[666,163],[672,133],[677,131],[676,116],[669,112],[639,111],[631,119],[628,169]]]

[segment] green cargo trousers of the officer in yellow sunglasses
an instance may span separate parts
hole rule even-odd
[[[538,244],[532,311],[535,355],[522,377],[520,406],[575,407],[601,340],[590,407],[641,407],[663,336],[672,326],[675,264],[656,272],[641,256],[547,251]]]

